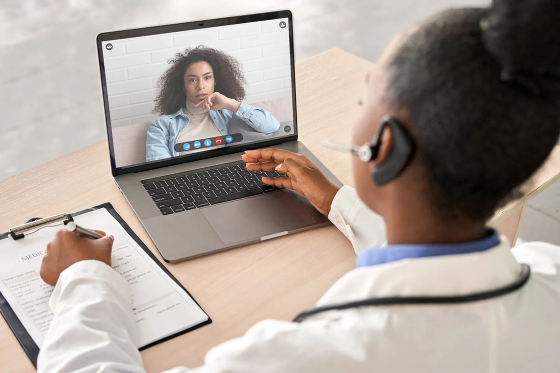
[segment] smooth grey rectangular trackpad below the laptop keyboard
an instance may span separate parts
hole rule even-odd
[[[316,223],[287,190],[206,207],[200,213],[226,245]]]

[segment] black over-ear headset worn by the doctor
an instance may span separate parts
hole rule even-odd
[[[416,144],[402,122],[396,118],[385,116],[375,142],[372,145],[362,145],[358,149],[358,156],[363,162],[371,162],[379,155],[383,131],[386,127],[393,131],[393,144],[387,159],[371,172],[371,178],[377,186],[395,180],[407,168],[416,151]]]

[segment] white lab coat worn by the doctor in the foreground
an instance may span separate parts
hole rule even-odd
[[[352,188],[338,192],[329,218],[356,251],[385,241],[380,216]],[[318,305],[496,289],[515,281],[518,261],[530,264],[531,278],[500,298],[329,311],[303,323],[263,320],[212,348],[204,366],[169,372],[558,372],[560,248],[552,244],[510,249],[502,238],[483,252],[356,268]],[[39,354],[39,373],[144,372],[127,282],[109,266],[87,261],[69,267],[50,306],[55,317]]]

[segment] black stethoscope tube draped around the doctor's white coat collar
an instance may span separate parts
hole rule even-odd
[[[370,298],[357,300],[348,303],[339,303],[327,306],[320,306],[304,311],[293,319],[296,323],[301,323],[310,316],[314,316],[323,312],[333,310],[346,310],[350,308],[361,308],[368,306],[394,306],[394,305],[411,305],[411,304],[460,304],[475,302],[479,300],[487,300],[498,296],[510,294],[527,283],[531,275],[531,269],[528,265],[521,265],[521,273],[519,278],[509,285],[499,287],[498,289],[475,292],[466,295],[450,295],[450,296],[389,296],[386,298]]]

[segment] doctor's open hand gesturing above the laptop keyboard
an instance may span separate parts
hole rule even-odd
[[[262,181],[295,190],[307,197],[321,214],[329,213],[339,188],[304,155],[282,149],[248,150],[241,159],[247,162],[246,168],[250,171],[276,170],[287,174],[288,177],[277,179],[263,177]]]

